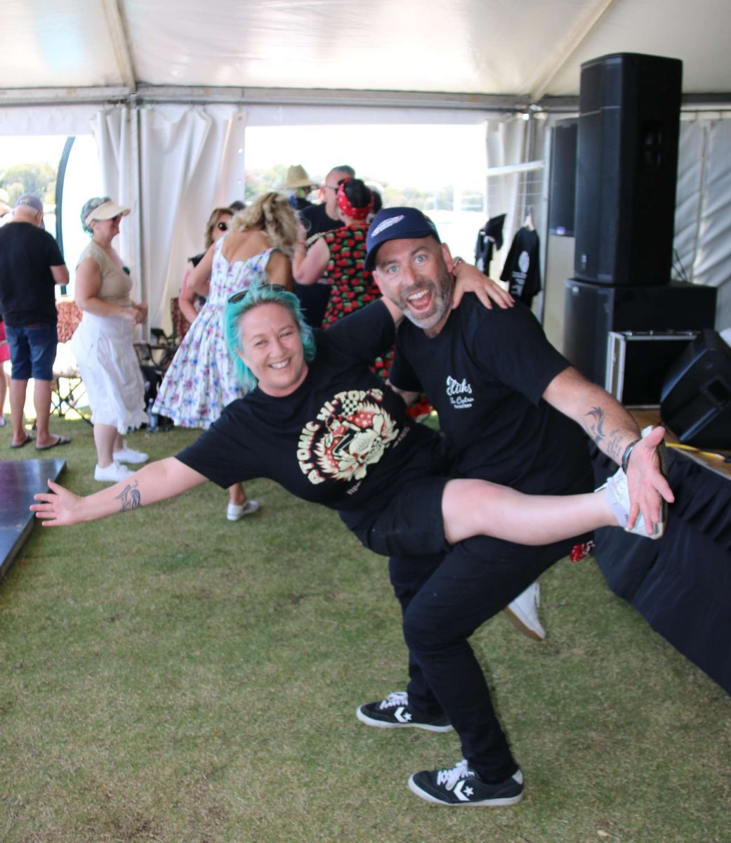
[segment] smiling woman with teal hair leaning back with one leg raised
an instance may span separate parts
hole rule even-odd
[[[44,526],[77,524],[206,480],[227,488],[267,477],[337,510],[366,547],[386,556],[439,553],[476,534],[545,545],[627,523],[621,470],[606,494],[565,497],[450,479],[440,436],[410,420],[403,400],[370,369],[392,346],[402,315],[382,299],[327,331],[312,330],[285,287],[253,284],[226,309],[227,342],[246,395],[175,457],[88,497],[49,481],[51,491],[36,495],[31,509]],[[641,519],[633,531],[644,532]]]

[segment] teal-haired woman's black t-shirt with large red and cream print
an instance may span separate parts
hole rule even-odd
[[[369,368],[393,343],[385,305],[316,330],[315,339],[316,357],[295,392],[275,398],[253,389],[177,459],[223,488],[268,477],[341,512],[371,510],[403,483],[433,474],[440,437],[409,420],[403,400]]]

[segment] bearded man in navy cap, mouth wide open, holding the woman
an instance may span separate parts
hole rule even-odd
[[[468,294],[452,310],[452,273],[461,259],[452,258],[422,212],[382,210],[366,246],[366,267],[407,317],[390,381],[407,400],[424,390],[453,450],[456,475],[529,493],[589,491],[588,433],[627,470],[630,523],[640,509],[645,524],[659,523],[662,498],[672,500],[656,454],[661,428],[641,438],[622,405],[576,372],[520,303],[488,310]],[[424,518],[431,517],[438,513],[427,506]],[[419,797],[447,805],[522,798],[523,775],[468,639],[576,541],[526,547],[480,536],[440,556],[390,561],[409,650],[408,690],[360,706],[357,716],[380,728],[456,729],[463,759],[411,776],[408,785]]]

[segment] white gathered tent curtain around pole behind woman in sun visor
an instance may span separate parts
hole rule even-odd
[[[104,189],[132,209],[120,233],[148,325],[169,330],[185,262],[211,210],[243,198],[245,113],[233,106],[108,109],[93,121]],[[139,176],[137,177],[137,173]],[[130,239],[136,241],[132,243]]]

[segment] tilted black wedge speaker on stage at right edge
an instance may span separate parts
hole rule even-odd
[[[731,449],[731,348],[704,330],[665,376],[660,416],[681,443]]]

